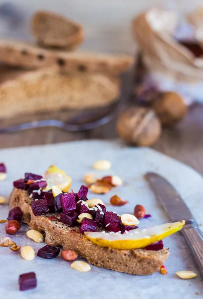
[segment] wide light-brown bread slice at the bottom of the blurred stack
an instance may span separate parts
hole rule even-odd
[[[63,74],[53,69],[7,68],[0,76],[0,118],[19,114],[106,106],[119,95],[118,78]]]

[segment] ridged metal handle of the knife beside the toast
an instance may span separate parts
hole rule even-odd
[[[181,232],[203,276],[203,233],[195,221],[186,221]]]

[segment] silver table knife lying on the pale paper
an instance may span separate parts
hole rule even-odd
[[[186,224],[180,232],[183,234],[203,276],[203,233],[193,214],[165,178],[154,172],[148,172],[145,177],[171,220],[173,222],[186,220]]]

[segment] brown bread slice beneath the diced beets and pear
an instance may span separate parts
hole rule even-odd
[[[74,250],[97,267],[134,275],[149,275],[159,271],[169,256],[167,249],[118,250],[97,246],[78,233],[78,228],[69,228],[61,222],[51,221],[48,219],[49,215],[34,216],[30,202],[27,191],[13,189],[9,199],[10,208],[19,206],[23,212],[23,221],[29,224],[29,228],[45,232],[45,243]]]

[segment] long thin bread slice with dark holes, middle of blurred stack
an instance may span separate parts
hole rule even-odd
[[[126,55],[48,50],[17,41],[0,40],[0,61],[26,69],[52,67],[71,73],[119,75],[132,65],[134,59]]]

